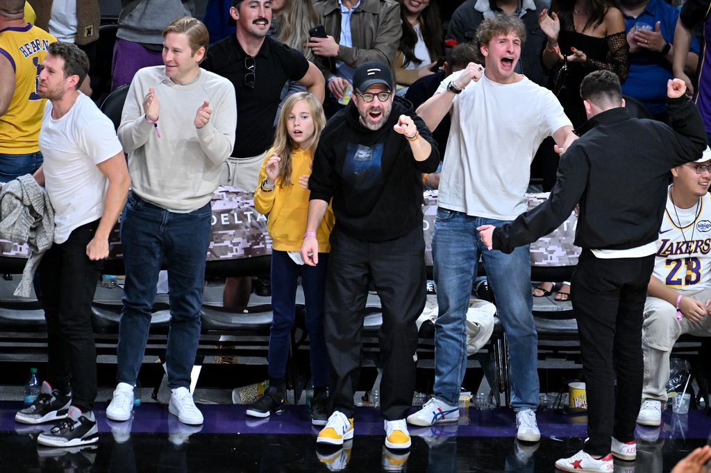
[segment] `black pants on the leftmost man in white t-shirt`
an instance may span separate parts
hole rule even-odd
[[[91,411],[96,398],[96,344],[91,325],[102,262],[90,261],[86,246],[99,221],[77,227],[62,244],[54,244],[40,266],[42,305],[47,320],[47,381],[72,390],[72,404]]]

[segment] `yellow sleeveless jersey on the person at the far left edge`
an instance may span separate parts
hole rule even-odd
[[[41,64],[56,38],[41,28],[25,26],[0,30],[0,54],[15,71],[15,92],[0,116],[0,153],[39,151],[40,126],[45,99],[37,94]]]

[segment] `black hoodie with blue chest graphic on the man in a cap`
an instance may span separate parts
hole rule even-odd
[[[405,136],[392,129],[401,114],[412,116],[432,145],[425,161],[415,161]],[[334,230],[365,241],[402,237],[422,225],[422,173],[437,169],[437,145],[410,102],[400,97],[380,129],[369,130],[358,119],[351,102],[328,120],[309,178],[310,200],[333,197]]]

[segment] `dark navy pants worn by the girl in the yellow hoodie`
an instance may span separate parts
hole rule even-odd
[[[328,357],[324,342],[324,286],[328,253],[319,253],[316,266],[298,265],[286,251],[272,251],[272,330],[269,332],[269,377],[284,378],[296,312],[296,285],[301,276],[309,331],[311,378],[328,386]]]

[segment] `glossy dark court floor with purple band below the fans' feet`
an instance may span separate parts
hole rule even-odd
[[[306,406],[289,406],[271,418],[252,420],[244,406],[204,405],[205,424],[183,425],[165,406],[145,403],[124,423],[107,422],[97,405],[100,441],[89,447],[45,449],[35,437],[51,425],[22,425],[21,403],[0,403],[0,472],[553,472],[555,460],[580,449],[584,415],[538,413],[543,439],[525,445],[514,438],[508,409],[462,410],[459,425],[412,428],[409,451],[383,446],[383,420],[358,408],[355,437],[343,448],[316,449]],[[707,443],[711,418],[703,411],[666,411],[661,428],[637,430],[636,462],[615,472],[662,473]]]

